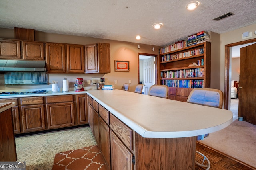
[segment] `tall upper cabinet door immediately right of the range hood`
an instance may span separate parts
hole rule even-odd
[[[64,44],[46,43],[46,66],[48,73],[66,72],[66,53]]]

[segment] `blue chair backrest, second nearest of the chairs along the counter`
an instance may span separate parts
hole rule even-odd
[[[148,90],[148,95],[157,96],[160,98],[168,97],[168,86],[166,85],[152,85]]]

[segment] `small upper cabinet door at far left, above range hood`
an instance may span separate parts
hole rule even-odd
[[[0,39],[0,59],[20,58],[20,41]]]

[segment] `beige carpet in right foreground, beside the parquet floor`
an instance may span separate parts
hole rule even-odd
[[[256,169],[256,126],[251,123],[235,120],[199,143]]]

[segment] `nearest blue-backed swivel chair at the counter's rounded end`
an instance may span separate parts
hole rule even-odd
[[[223,93],[221,90],[218,90],[218,89],[194,88],[190,92],[187,102],[193,103],[193,104],[200,104],[204,106],[216,107],[221,109],[223,104]],[[196,140],[203,140],[208,135],[209,134],[199,135],[196,137]],[[204,157],[204,159],[202,160],[202,163],[199,163],[196,161],[196,164],[206,168],[205,170],[209,170],[211,164],[208,158],[204,154],[198,151],[196,151],[196,153]],[[205,160],[207,161],[207,163],[204,163]]]

